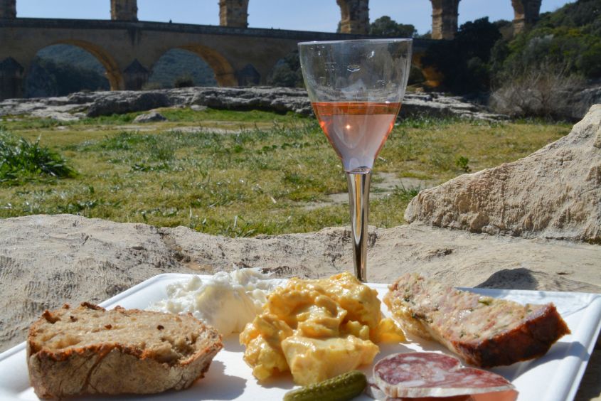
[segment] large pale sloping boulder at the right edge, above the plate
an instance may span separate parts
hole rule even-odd
[[[600,143],[601,105],[595,105],[568,136],[530,156],[420,192],[405,210],[405,220],[601,242]]]

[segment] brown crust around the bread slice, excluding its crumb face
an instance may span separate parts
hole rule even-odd
[[[215,328],[206,326],[193,316],[166,316],[161,312],[139,309],[115,308],[106,311],[100,306],[82,304],[69,310],[63,306],[58,311],[45,311],[42,318],[30,328],[27,340],[27,363],[29,380],[41,398],[62,398],[86,394],[151,394],[189,387],[202,378],[211,365],[213,357],[223,348],[221,336]],[[124,314],[136,319],[181,319],[193,325],[198,337],[195,350],[185,358],[161,360],[161,355],[128,343],[107,341],[69,346],[65,349],[49,349],[41,341],[42,333],[54,319],[99,311],[102,316],[111,313]],[[75,313],[74,313],[75,312]],[[50,319],[50,320],[48,320]],[[156,327],[154,327],[156,329]],[[149,328],[150,329],[150,328]],[[186,338],[187,339],[187,338]],[[164,359],[164,358],[163,358]]]

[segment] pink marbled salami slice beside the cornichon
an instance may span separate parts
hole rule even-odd
[[[373,384],[390,398],[453,397],[511,391],[514,385],[496,373],[464,368],[457,358],[431,352],[397,353],[373,366]]]

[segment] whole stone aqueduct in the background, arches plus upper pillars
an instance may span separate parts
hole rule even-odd
[[[220,26],[139,22],[137,0],[110,0],[111,21],[17,18],[16,0],[0,0],[0,100],[22,97],[38,50],[68,44],[102,63],[112,90],[139,90],[157,60],[172,48],[190,50],[213,68],[222,86],[265,84],[277,60],[299,41],[363,38],[369,26],[368,0],[336,0],[341,33],[248,28],[249,0],[219,0]],[[459,0],[430,0],[432,39],[457,31]],[[514,32],[538,18],[541,0],[511,0]],[[430,40],[414,41],[419,64]],[[428,78],[428,72],[425,71]],[[435,80],[435,74],[432,74]]]

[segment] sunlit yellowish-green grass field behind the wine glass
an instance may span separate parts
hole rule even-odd
[[[59,154],[76,173],[2,178],[0,169],[0,217],[74,213],[232,237],[347,224],[348,206],[329,202],[346,192],[346,178],[314,119],[213,109],[161,114],[169,121],[134,125],[135,113],[70,123],[4,118],[0,142],[39,139],[40,149]],[[569,131],[544,122],[407,119],[390,134],[373,182],[388,173],[442,183],[519,159]],[[418,190],[397,186],[373,198],[370,224],[404,223]]]

